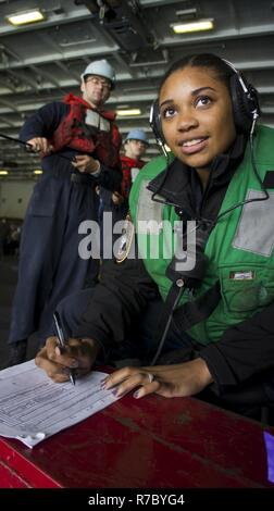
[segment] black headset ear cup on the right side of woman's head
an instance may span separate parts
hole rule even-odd
[[[247,91],[244,90],[237,73],[234,73],[231,77],[231,96],[234,122],[239,132],[249,132],[253,122],[253,113],[260,113],[256,89],[246,82],[245,86]]]

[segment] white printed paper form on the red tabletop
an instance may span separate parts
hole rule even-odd
[[[94,371],[75,386],[57,384],[34,360],[0,371],[0,435],[34,447],[102,410],[117,400],[101,388],[105,376]]]

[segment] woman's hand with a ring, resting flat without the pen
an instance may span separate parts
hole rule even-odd
[[[107,377],[104,388],[115,387],[117,397],[138,387],[135,398],[159,394],[166,398],[187,397],[203,390],[213,382],[204,360],[151,367],[123,367]]]

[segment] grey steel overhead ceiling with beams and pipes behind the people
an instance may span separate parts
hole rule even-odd
[[[100,5],[100,7],[99,7]],[[46,21],[21,28],[5,16],[39,7]],[[215,29],[175,35],[178,11],[197,9]],[[42,104],[79,92],[87,63],[107,58],[116,71],[111,109],[139,108],[117,123],[123,135],[141,127],[158,152],[148,116],[159,82],[171,62],[192,52],[213,52],[245,72],[261,97],[262,121],[274,126],[274,1],[271,0],[0,0],[0,133],[17,137],[24,120]],[[37,157],[0,138],[0,169],[30,177]],[[39,166],[39,165],[38,165]]]

